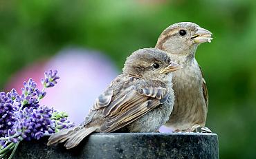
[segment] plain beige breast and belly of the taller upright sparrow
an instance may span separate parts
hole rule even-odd
[[[197,63],[173,73],[175,102],[168,126],[188,129],[195,123],[204,125],[206,105],[203,98],[202,74]]]

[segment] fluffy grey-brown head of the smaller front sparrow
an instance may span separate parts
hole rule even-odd
[[[140,76],[145,79],[163,81],[166,75],[170,75],[170,72],[181,68],[181,65],[171,61],[167,52],[146,48],[137,50],[127,57],[122,72],[123,74]]]

